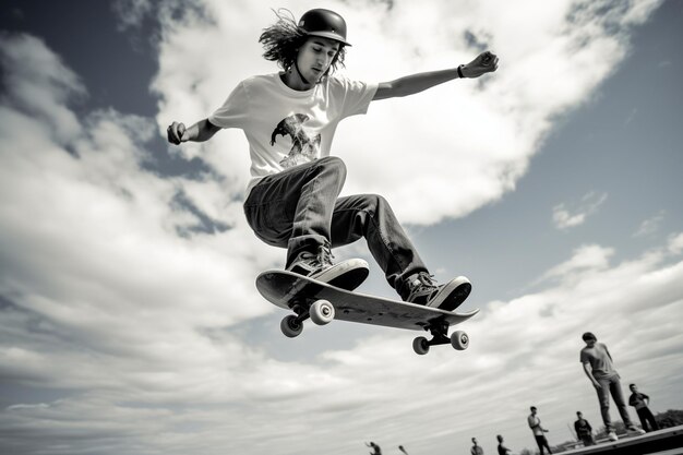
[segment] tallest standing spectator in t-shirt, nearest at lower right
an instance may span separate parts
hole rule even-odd
[[[624,403],[624,395],[621,388],[620,375],[614,369],[612,356],[603,343],[598,343],[598,338],[590,332],[586,332],[582,336],[586,346],[580,351],[580,362],[584,366],[584,372],[588,380],[596,388],[598,393],[598,400],[600,403],[600,414],[602,415],[602,422],[608,433],[608,438],[611,441],[616,441],[616,432],[612,426],[612,419],[610,418],[610,395],[614,399],[616,409],[624,422],[624,426],[630,431],[644,433],[638,430],[636,426],[631,421],[626,404]]]

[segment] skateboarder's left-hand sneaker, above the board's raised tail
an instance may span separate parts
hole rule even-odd
[[[370,273],[368,263],[362,259],[349,259],[333,264],[332,258],[329,247],[321,246],[317,254],[309,251],[300,252],[287,271],[346,290],[356,289]]]

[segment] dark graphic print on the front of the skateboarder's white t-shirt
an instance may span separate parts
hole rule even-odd
[[[303,127],[309,120],[305,113],[295,113],[283,119],[271,135],[271,145],[275,145],[277,136],[289,136],[291,149],[279,164],[285,168],[312,161],[317,158],[320,152],[320,134],[310,134]]]

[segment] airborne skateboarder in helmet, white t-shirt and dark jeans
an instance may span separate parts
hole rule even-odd
[[[349,81],[334,75],[350,46],[346,31],[344,19],[329,10],[310,10],[298,22],[278,12],[259,40],[264,58],[283,71],[242,81],[223,106],[189,128],[173,121],[168,141],[203,142],[224,128],[244,131],[252,177],[244,214],[259,239],[287,249],[288,271],[354,289],[368,276],[368,264],[335,264],[331,250],[364,237],[403,300],[453,310],[467,298],[467,278],[438,286],[384,197],[339,199],[346,167],[329,156],[331,145],[338,122],[366,113],[371,101],[479,77],[498,69],[498,57],[487,51],[467,64],[379,84]]]

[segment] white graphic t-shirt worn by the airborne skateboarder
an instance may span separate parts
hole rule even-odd
[[[247,195],[265,176],[328,156],[339,121],[366,113],[378,84],[326,77],[299,92],[279,73],[240,82],[208,117],[220,128],[239,128],[249,141],[251,180]]]

